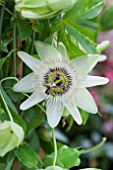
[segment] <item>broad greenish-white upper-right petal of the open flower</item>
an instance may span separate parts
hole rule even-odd
[[[79,70],[82,74],[88,74],[92,68],[99,61],[99,55],[89,54],[87,56],[78,57],[72,62],[74,63],[75,69]]]

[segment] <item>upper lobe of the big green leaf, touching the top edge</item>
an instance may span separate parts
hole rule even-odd
[[[102,10],[103,0],[79,0],[75,6],[66,13],[64,20],[84,20],[96,17]]]

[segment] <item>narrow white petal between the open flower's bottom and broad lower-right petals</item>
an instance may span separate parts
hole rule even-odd
[[[70,112],[70,114],[72,115],[72,117],[74,118],[74,120],[79,125],[81,125],[82,124],[82,118],[81,118],[81,115],[80,115],[78,108],[76,107],[76,103],[73,100],[68,101],[68,102],[65,102],[65,106],[66,106],[67,110]]]

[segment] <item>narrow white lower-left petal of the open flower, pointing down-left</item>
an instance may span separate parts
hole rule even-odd
[[[35,91],[27,100],[25,100],[21,105],[21,110],[27,110],[30,107],[40,103],[41,101],[45,100],[46,96],[44,93],[39,91]]]

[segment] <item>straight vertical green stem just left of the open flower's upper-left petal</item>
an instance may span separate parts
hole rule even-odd
[[[17,12],[14,11],[14,26],[13,26],[13,71],[14,77],[16,77],[16,21],[15,18],[17,17]]]

